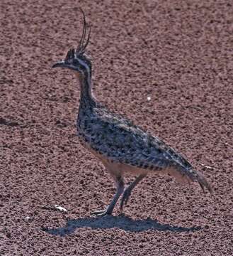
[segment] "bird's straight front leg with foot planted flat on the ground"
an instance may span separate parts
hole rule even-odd
[[[113,177],[115,179],[116,188],[117,191],[115,193],[115,196],[113,197],[113,200],[110,202],[109,206],[106,208],[106,210],[96,210],[95,212],[91,213],[96,216],[104,216],[104,215],[111,215],[113,213],[113,209],[115,207],[115,203],[117,203],[118,198],[124,191],[124,180],[121,176],[115,176]]]

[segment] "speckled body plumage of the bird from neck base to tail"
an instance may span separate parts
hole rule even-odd
[[[84,146],[109,161],[146,169],[151,174],[175,171],[179,179],[200,182],[203,179],[203,176],[198,179],[200,173],[161,139],[97,102],[86,106],[81,100],[77,130]],[[208,187],[207,184],[203,185]]]

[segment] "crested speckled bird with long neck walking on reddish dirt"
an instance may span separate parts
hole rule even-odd
[[[77,136],[81,145],[102,162],[115,182],[116,193],[112,201],[105,209],[95,210],[91,214],[111,215],[120,196],[120,210],[123,212],[133,188],[149,174],[169,174],[183,183],[197,182],[203,192],[207,188],[212,194],[212,187],[205,176],[195,170],[181,154],[96,100],[91,89],[91,58],[86,53],[91,26],[86,22],[82,9],[81,13],[84,21],[78,46],[71,48],[64,60],[59,60],[52,68],[72,70],[79,80]],[[136,176],[126,188],[125,174]]]

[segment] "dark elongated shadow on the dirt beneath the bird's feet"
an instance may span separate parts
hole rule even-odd
[[[120,228],[129,232],[142,232],[146,230],[171,231],[171,232],[188,232],[197,231],[201,227],[181,227],[169,224],[160,224],[157,220],[147,218],[146,220],[132,220],[125,215],[112,216],[107,215],[102,218],[78,218],[69,219],[64,227],[61,228],[42,228],[43,231],[51,235],[65,236],[74,233],[77,228],[92,228],[92,229],[108,229]]]

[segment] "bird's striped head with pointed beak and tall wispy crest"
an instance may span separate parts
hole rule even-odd
[[[85,53],[86,46],[89,43],[91,28],[86,23],[84,12],[82,10],[81,12],[84,15],[84,28],[79,46],[76,49],[70,49],[66,58],[52,65],[52,68],[69,68],[74,70],[77,75],[89,75],[91,77],[91,59]]]

